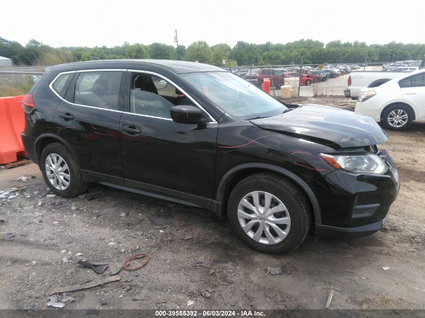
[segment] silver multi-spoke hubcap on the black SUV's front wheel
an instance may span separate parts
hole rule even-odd
[[[237,207],[237,217],[246,235],[262,244],[282,242],[291,228],[291,217],[285,204],[264,191],[246,194]]]

